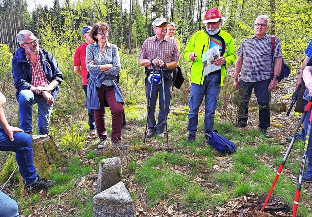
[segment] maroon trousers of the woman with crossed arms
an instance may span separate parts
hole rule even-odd
[[[99,138],[107,138],[107,130],[105,126],[105,105],[106,99],[112,114],[112,142],[121,141],[122,130],[122,103],[116,102],[114,86],[102,85],[97,88],[98,98],[101,105],[101,109],[94,110],[94,119],[98,130]]]

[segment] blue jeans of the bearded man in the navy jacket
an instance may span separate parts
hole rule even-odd
[[[33,105],[38,106],[38,134],[49,134],[52,105],[47,100],[31,90],[21,90],[19,94],[20,128],[24,132],[31,132]]]

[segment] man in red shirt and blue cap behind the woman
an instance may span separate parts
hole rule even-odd
[[[82,89],[84,90],[84,94],[87,96],[87,82],[88,79],[87,67],[86,67],[86,48],[88,44],[94,43],[94,40],[90,37],[90,31],[92,26],[84,26],[81,30],[82,36],[84,38],[84,42],[79,45],[74,54],[74,72],[76,72],[79,76],[82,77]],[[88,124],[91,137],[95,137],[97,134],[96,124],[94,121],[94,114],[92,109],[88,109]]]

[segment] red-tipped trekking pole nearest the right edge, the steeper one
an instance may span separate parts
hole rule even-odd
[[[296,194],[294,197],[292,217],[296,217],[296,214],[297,214],[297,208],[298,208],[298,204],[299,204],[300,191],[301,191],[301,187],[302,187],[304,168],[305,168],[306,161],[307,161],[307,154],[308,154],[308,147],[309,147],[309,140],[310,140],[311,132],[312,132],[312,111],[310,112],[308,131],[306,133],[306,139],[304,141],[303,156],[302,156],[302,162],[301,162],[301,167],[300,167],[297,190],[296,190]]]

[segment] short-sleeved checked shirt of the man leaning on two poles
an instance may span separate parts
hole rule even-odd
[[[158,41],[156,35],[146,38],[138,58],[156,59],[158,57],[164,63],[180,60],[179,49],[174,38],[165,36],[162,41]],[[152,69],[153,66],[148,66],[147,68]],[[155,70],[160,70],[160,68],[155,66]]]

